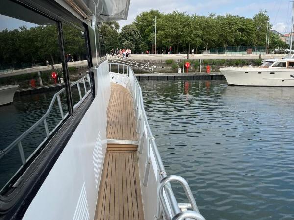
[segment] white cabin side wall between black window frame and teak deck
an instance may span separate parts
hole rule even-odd
[[[94,69],[94,75],[98,95],[28,207],[24,220],[94,219],[107,147],[108,62]],[[89,215],[82,214],[84,211]]]

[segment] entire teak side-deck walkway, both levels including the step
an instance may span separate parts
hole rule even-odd
[[[131,144],[107,145],[95,220],[144,220],[132,97],[121,85],[111,84],[107,120],[107,139]]]

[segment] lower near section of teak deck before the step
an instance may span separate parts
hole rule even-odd
[[[95,220],[144,220],[136,152],[106,152]]]

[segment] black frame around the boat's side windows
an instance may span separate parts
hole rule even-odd
[[[49,15],[48,13],[42,12],[38,5],[35,5],[36,7],[34,7],[28,4],[26,2],[27,0],[24,2],[19,2],[18,0],[11,1],[56,22],[69,114],[49,136],[49,138],[42,144],[39,150],[31,156],[25,166],[19,170],[9,181],[9,185],[7,185],[7,187],[5,187],[0,192],[0,219],[21,219],[24,216],[29,204],[37,194],[39,188],[42,186],[59,155],[62,153],[73,132],[95,98],[94,73],[91,71],[93,63],[88,32],[89,26],[81,20],[77,20],[77,18],[71,15],[69,12],[67,12],[69,19],[66,21],[64,18],[60,19],[57,12],[56,16]],[[58,6],[58,3],[56,2],[49,2],[48,4],[55,7]],[[60,10],[64,11],[63,8]],[[74,23],[72,21],[74,21]],[[64,39],[62,32],[63,22],[80,30],[84,29],[86,38],[85,41],[88,54],[88,67],[91,79],[91,93],[85,98],[81,105],[77,107],[75,112],[73,111],[73,102],[71,100],[71,87],[66,62],[66,54],[64,50]]]

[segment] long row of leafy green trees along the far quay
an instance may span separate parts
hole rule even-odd
[[[231,14],[208,16],[188,15],[183,12],[142,12],[133,22],[142,37],[141,44],[152,48],[152,15],[157,18],[157,50],[172,46],[173,52],[209,50],[227,46],[265,46],[267,28],[271,28],[266,11],[254,17],[244,18]],[[286,47],[276,36],[270,34],[270,48]]]

